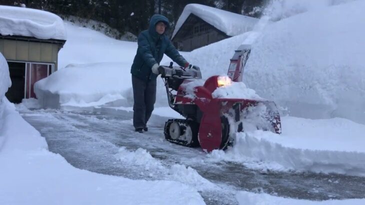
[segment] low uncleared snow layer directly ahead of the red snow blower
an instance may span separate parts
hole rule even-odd
[[[282,117],[281,123],[280,135],[261,130],[237,133],[233,147],[214,150],[208,157],[261,170],[365,176],[365,125],[341,118]]]

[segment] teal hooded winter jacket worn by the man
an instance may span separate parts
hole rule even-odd
[[[159,21],[166,24],[166,32],[169,27],[168,19],[163,15],[154,14],[149,20],[148,30],[143,30],[138,35],[137,53],[134,56],[130,73],[142,80],[156,79],[157,75],[152,72],[151,68],[155,63],[159,64],[164,53],[180,66],[185,66],[187,63],[165,33],[159,34],[156,31],[155,25]]]

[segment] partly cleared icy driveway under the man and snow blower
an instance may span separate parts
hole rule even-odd
[[[179,180],[196,187],[207,204],[235,204],[237,190],[312,200],[365,197],[362,177],[259,172],[236,163],[208,162],[199,148],[165,141],[166,118],[158,116],[153,116],[147,133],[136,134],[131,112],[122,110],[20,112],[46,138],[50,151],[77,168],[132,179]]]

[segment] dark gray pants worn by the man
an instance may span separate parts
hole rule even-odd
[[[133,86],[133,126],[146,127],[156,101],[156,79],[144,81],[132,75]]]

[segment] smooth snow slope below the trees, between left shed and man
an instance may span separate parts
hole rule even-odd
[[[67,41],[58,52],[58,69],[68,64],[89,64],[96,62],[122,62],[121,68],[132,65],[136,42],[115,40],[101,32],[73,25],[64,21]],[[129,70],[128,70],[129,73]]]

